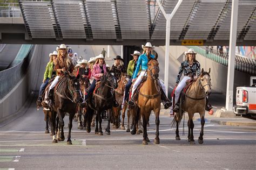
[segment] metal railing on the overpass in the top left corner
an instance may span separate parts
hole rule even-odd
[[[0,3],[0,17],[22,17],[18,3]]]

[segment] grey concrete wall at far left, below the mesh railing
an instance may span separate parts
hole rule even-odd
[[[40,65],[41,56],[38,55],[41,55],[41,53],[42,45],[35,45],[35,50],[31,55],[28,72],[10,93],[0,100],[0,122],[16,116],[28,100],[31,90],[36,88],[35,75],[37,75],[37,68],[38,65]]]

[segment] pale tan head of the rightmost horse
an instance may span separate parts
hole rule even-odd
[[[199,77],[199,83],[204,88],[205,95],[208,96],[212,93],[211,91],[211,77],[210,77],[211,68],[209,68],[208,72],[204,72],[204,68],[201,70],[201,75]]]

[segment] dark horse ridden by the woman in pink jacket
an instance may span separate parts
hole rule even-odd
[[[103,135],[102,132],[102,112],[111,109],[113,106],[113,93],[117,88],[117,79],[113,72],[107,72],[99,82],[98,88],[93,91],[89,108],[96,111],[95,134]],[[88,110],[86,111],[87,114]],[[90,113],[88,113],[90,115]],[[110,117],[108,119],[106,134],[110,134]],[[99,123],[99,128],[98,128]],[[90,126],[90,125],[89,125]]]

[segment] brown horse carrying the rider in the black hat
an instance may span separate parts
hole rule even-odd
[[[114,89],[114,93],[116,95],[116,100],[119,104],[117,108],[112,107],[112,121],[113,121],[113,128],[119,128],[120,126],[120,111],[122,110],[122,103],[124,98],[124,90],[127,82],[129,81],[129,77],[127,74],[122,73],[120,80],[118,80],[117,89]],[[122,116],[124,113],[122,113]]]

